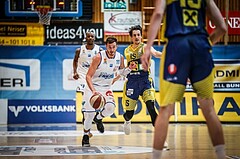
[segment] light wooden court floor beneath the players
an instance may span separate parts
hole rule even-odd
[[[223,130],[226,158],[240,159],[240,125],[224,124]],[[0,125],[0,158],[149,159],[151,157],[153,128],[149,123],[133,123],[130,135],[123,134],[122,124],[110,123],[105,123],[104,134],[99,134],[95,125],[92,132],[94,135],[90,139],[92,148],[94,150],[104,148],[106,151],[95,153],[90,149],[82,149],[82,124]],[[215,158],[205,124],[171,123],[167,142],[169,150],[164,151],[163,159]],[[55,152],[62,151],[64,146],[73,146],[75,151],[58,155],[51,151],[51,149]],[[17,152],[19,147],[25,148],[25,155]],[[112,148],[114,150],[107,153],[110,152],[107,149]],[[120,148],[125,150],[119,153],[117,151]],[[36,153],[36,149],[39,149],[39,152]]]

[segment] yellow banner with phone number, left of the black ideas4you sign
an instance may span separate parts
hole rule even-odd
[[[42,46],[43,29],[38,23],[0,23],[0,45]]]

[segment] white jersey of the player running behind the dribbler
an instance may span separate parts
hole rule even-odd
[[[92,63],[92,58],[100,51],[100,46],[95,45],[92,50],[88,50],[86,45],[81,46],[81,50],[78,58],[78,68],[77,73],[79,75],[79,80],[86,81],[86,74],[90,64]]]

